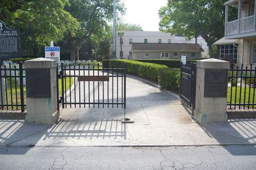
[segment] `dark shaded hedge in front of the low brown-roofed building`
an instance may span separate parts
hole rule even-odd
[[[154,63],[154,64],[162,64],[166,65],[167,67],[170,68],[180,68],[180,62],[181,60],[134,60],[134,61],[139,61],[139,62],[145,62],[145,63]],[[196,63],[197,60],[187,60],[188,63],[193,62]]]

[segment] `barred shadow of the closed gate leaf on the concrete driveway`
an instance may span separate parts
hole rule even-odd
[[[125,124],[120,119],[90,120],[60,119],[48,132],[44,134],[42,140],[49,138],[115,138],[126,139]]]

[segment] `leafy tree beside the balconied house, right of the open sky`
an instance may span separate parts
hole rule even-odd
[[[212,44],[224,36],[226,0],[168,0],[159,10],[160,30],[184,34],[187,38],[201,36],[214,57]],[[232,11],[233,12],[233,11]]]

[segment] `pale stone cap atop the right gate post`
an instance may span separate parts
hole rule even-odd
[[[228,69],[229,62],[224,60],[219,60],[215,58],[205,59],[205,60],[198,60],[197,67],[200,68],[217,68],[217,69]]]

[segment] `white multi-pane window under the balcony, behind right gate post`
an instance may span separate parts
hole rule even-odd
[[[238,47],[234,45],[221,45],[220,59],[223,60],[226,55],[232,56],[235,63],[238,60]]]

